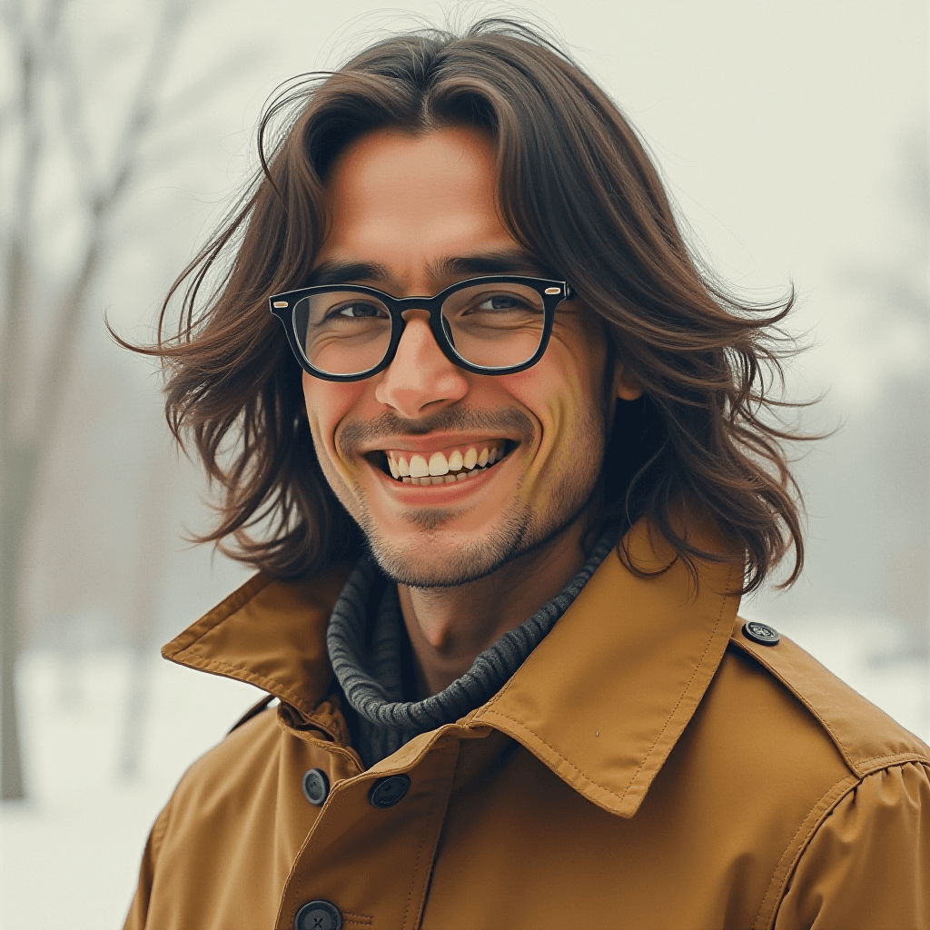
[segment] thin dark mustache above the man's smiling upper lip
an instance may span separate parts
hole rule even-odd
[[[363,445],[378,445],[379,439],[424,436],[429,432],[497,432],[529,444],[534,431],[532,420],[513,407],[502,410],[449,407],[424,419],[405,419],[387,410],[375,419],[347,423],[339,435],[339,445],[344,454],[352,456]]]

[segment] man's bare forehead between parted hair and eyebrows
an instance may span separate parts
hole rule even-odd
[[[367,261],[416,276],[437,259],[517,247],[498,216],[494,140],[452,126],[367,133],[326,179],[324,262]]]

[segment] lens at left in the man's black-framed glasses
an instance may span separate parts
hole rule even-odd
[[[361,375],[379,365],[391,345],[391,314],[360,291],[313,294],[294,307],[300,348],[317,371]]]

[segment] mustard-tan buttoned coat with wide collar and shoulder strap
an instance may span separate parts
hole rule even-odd
[[[928,930],[930,751],[786,638],[751,642],[732,572],[695,597],[681,566],[608,556],[497,696],[368,771],[327,695],[342,578],[252,578],[164,655],[281,704],[181,779],[126,928],[290,930],[324,900],[301,930]]]

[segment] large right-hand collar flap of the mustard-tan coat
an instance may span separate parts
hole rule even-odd
[[[635,564],[668,565],[642,524],[629,543]],[[741,567],[699,565],[696,592],[681,562],[637,578],[612,552],[472,725],[502,730],[591,802],[632,817],[724,656]]]

